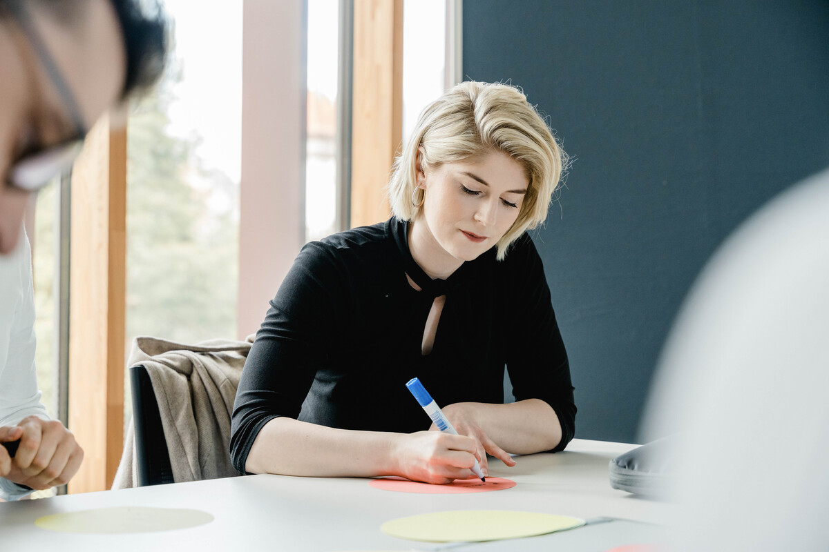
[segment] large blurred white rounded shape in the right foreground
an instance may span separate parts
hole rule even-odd
[[[676,434],[671,550],[829,550],[829,170],[716,252],[662,353],[643,436]]]

